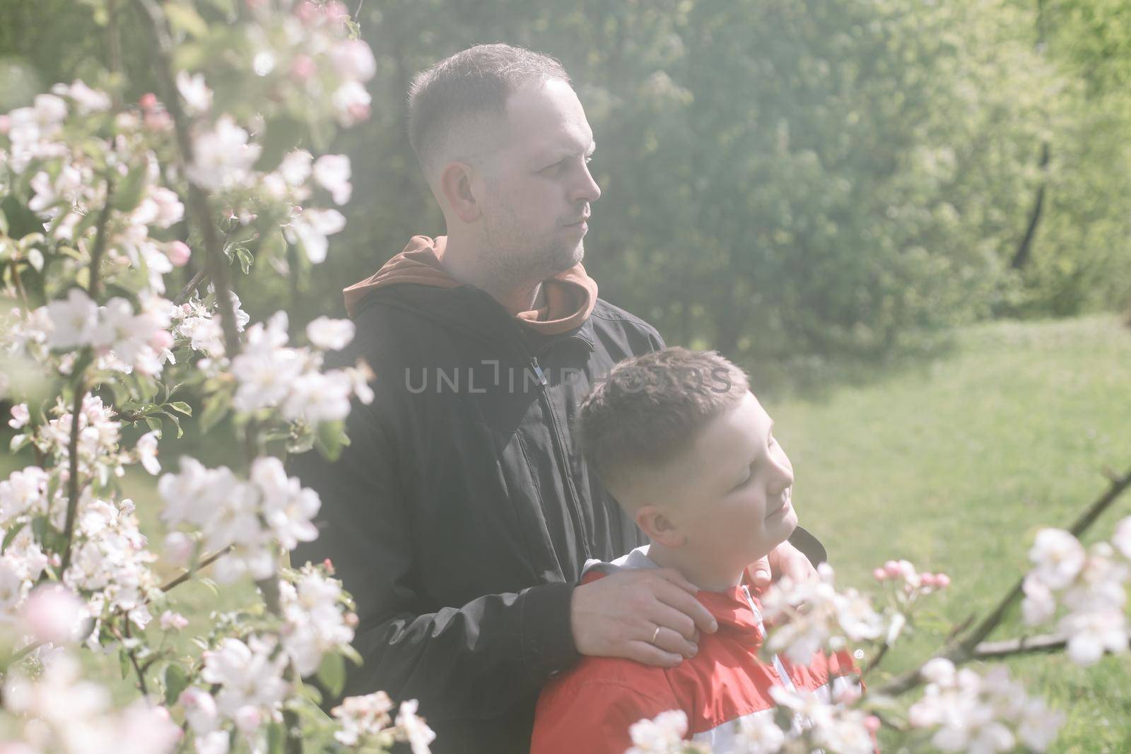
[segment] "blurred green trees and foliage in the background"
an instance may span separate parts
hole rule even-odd
[[[127,98],[152,88],[127,0],[119,52],[74,0],[0,2],[6,107],[92,60],[121,71]],[[240,294],[256,315],[340,314],[344,285],[443,233],[405,92],[494,41],[570,71],[604,190],[587,268],[670,343],[796,378],[991,315],[1131,304],[1125,0],[349,6],[378,57],[370,121],[330,146],[353,159],[349,223],[317,272],[294,253],[273,262],[290,261],[287,283],[253,269]]]

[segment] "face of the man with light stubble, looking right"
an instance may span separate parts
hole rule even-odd
[[[483,248],[508,278],[542,280],[585,254],[584,218],[601,197],[588,168],[593,130],[573,89],[556,79],[511,94],[506,128],[481,179]]]

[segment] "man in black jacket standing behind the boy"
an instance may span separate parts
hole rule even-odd
[[[525,752],[539,687],[581,655],[670,667],[716,623],[671,570],[577,586],[645,538],[570,423],[596,378],[664,344],[581,267],[601,189],[569,77],[480,45],[418,75],[408,109],[448,234],[345,292],[357,335],[337,359],[364,358],[377,397],[337,462],[293,460],[322,509],[292,562],[329,557],[356,600],[347,695],[418,699],[434,752]],[[775,557],[809,569],[788,544]]]

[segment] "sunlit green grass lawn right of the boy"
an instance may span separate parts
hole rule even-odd
[[[946,571],[953,584],[933,607],[955,623],[1012,586],[1038,528],[1067,527],[1106,488],[1105,466],[1131,467],[1131,330],[1114,318],[996,322],[929,365],[819,401],[768,402],[798,515],[839,581],[866,584],[890,557]],[[1131,496],[1093,538],[1126,514]],[[1020,631],[1015,616],[994,638]],[[940,636],[920,631],[886,667],[912,667]],[[1131,658],[1010,666],[1068,713],[1053,751],[1131,751]]]

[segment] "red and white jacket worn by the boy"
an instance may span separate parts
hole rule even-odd
[[[656,567],[632,551],[622,567]],[[615,570],[587,564],[582,582]],[[763,631],[760,604],[745,586],[726,592],[697,595],[718,621],[718,631],[699,639],[699,652],[674,668],[632,660],[586,657],[569,673],[550,682],[538,697],[530,754],[623,754],[632,745],[629,726],[667,710],[683,710],[692,740],[710,743],[716,754],[729,751],[739,718],[774,714],[772,686],[793,686],[831,701],[841,687],[855,685],[851,657],[818,653],[809,665],[785,657],[758,658]]]

